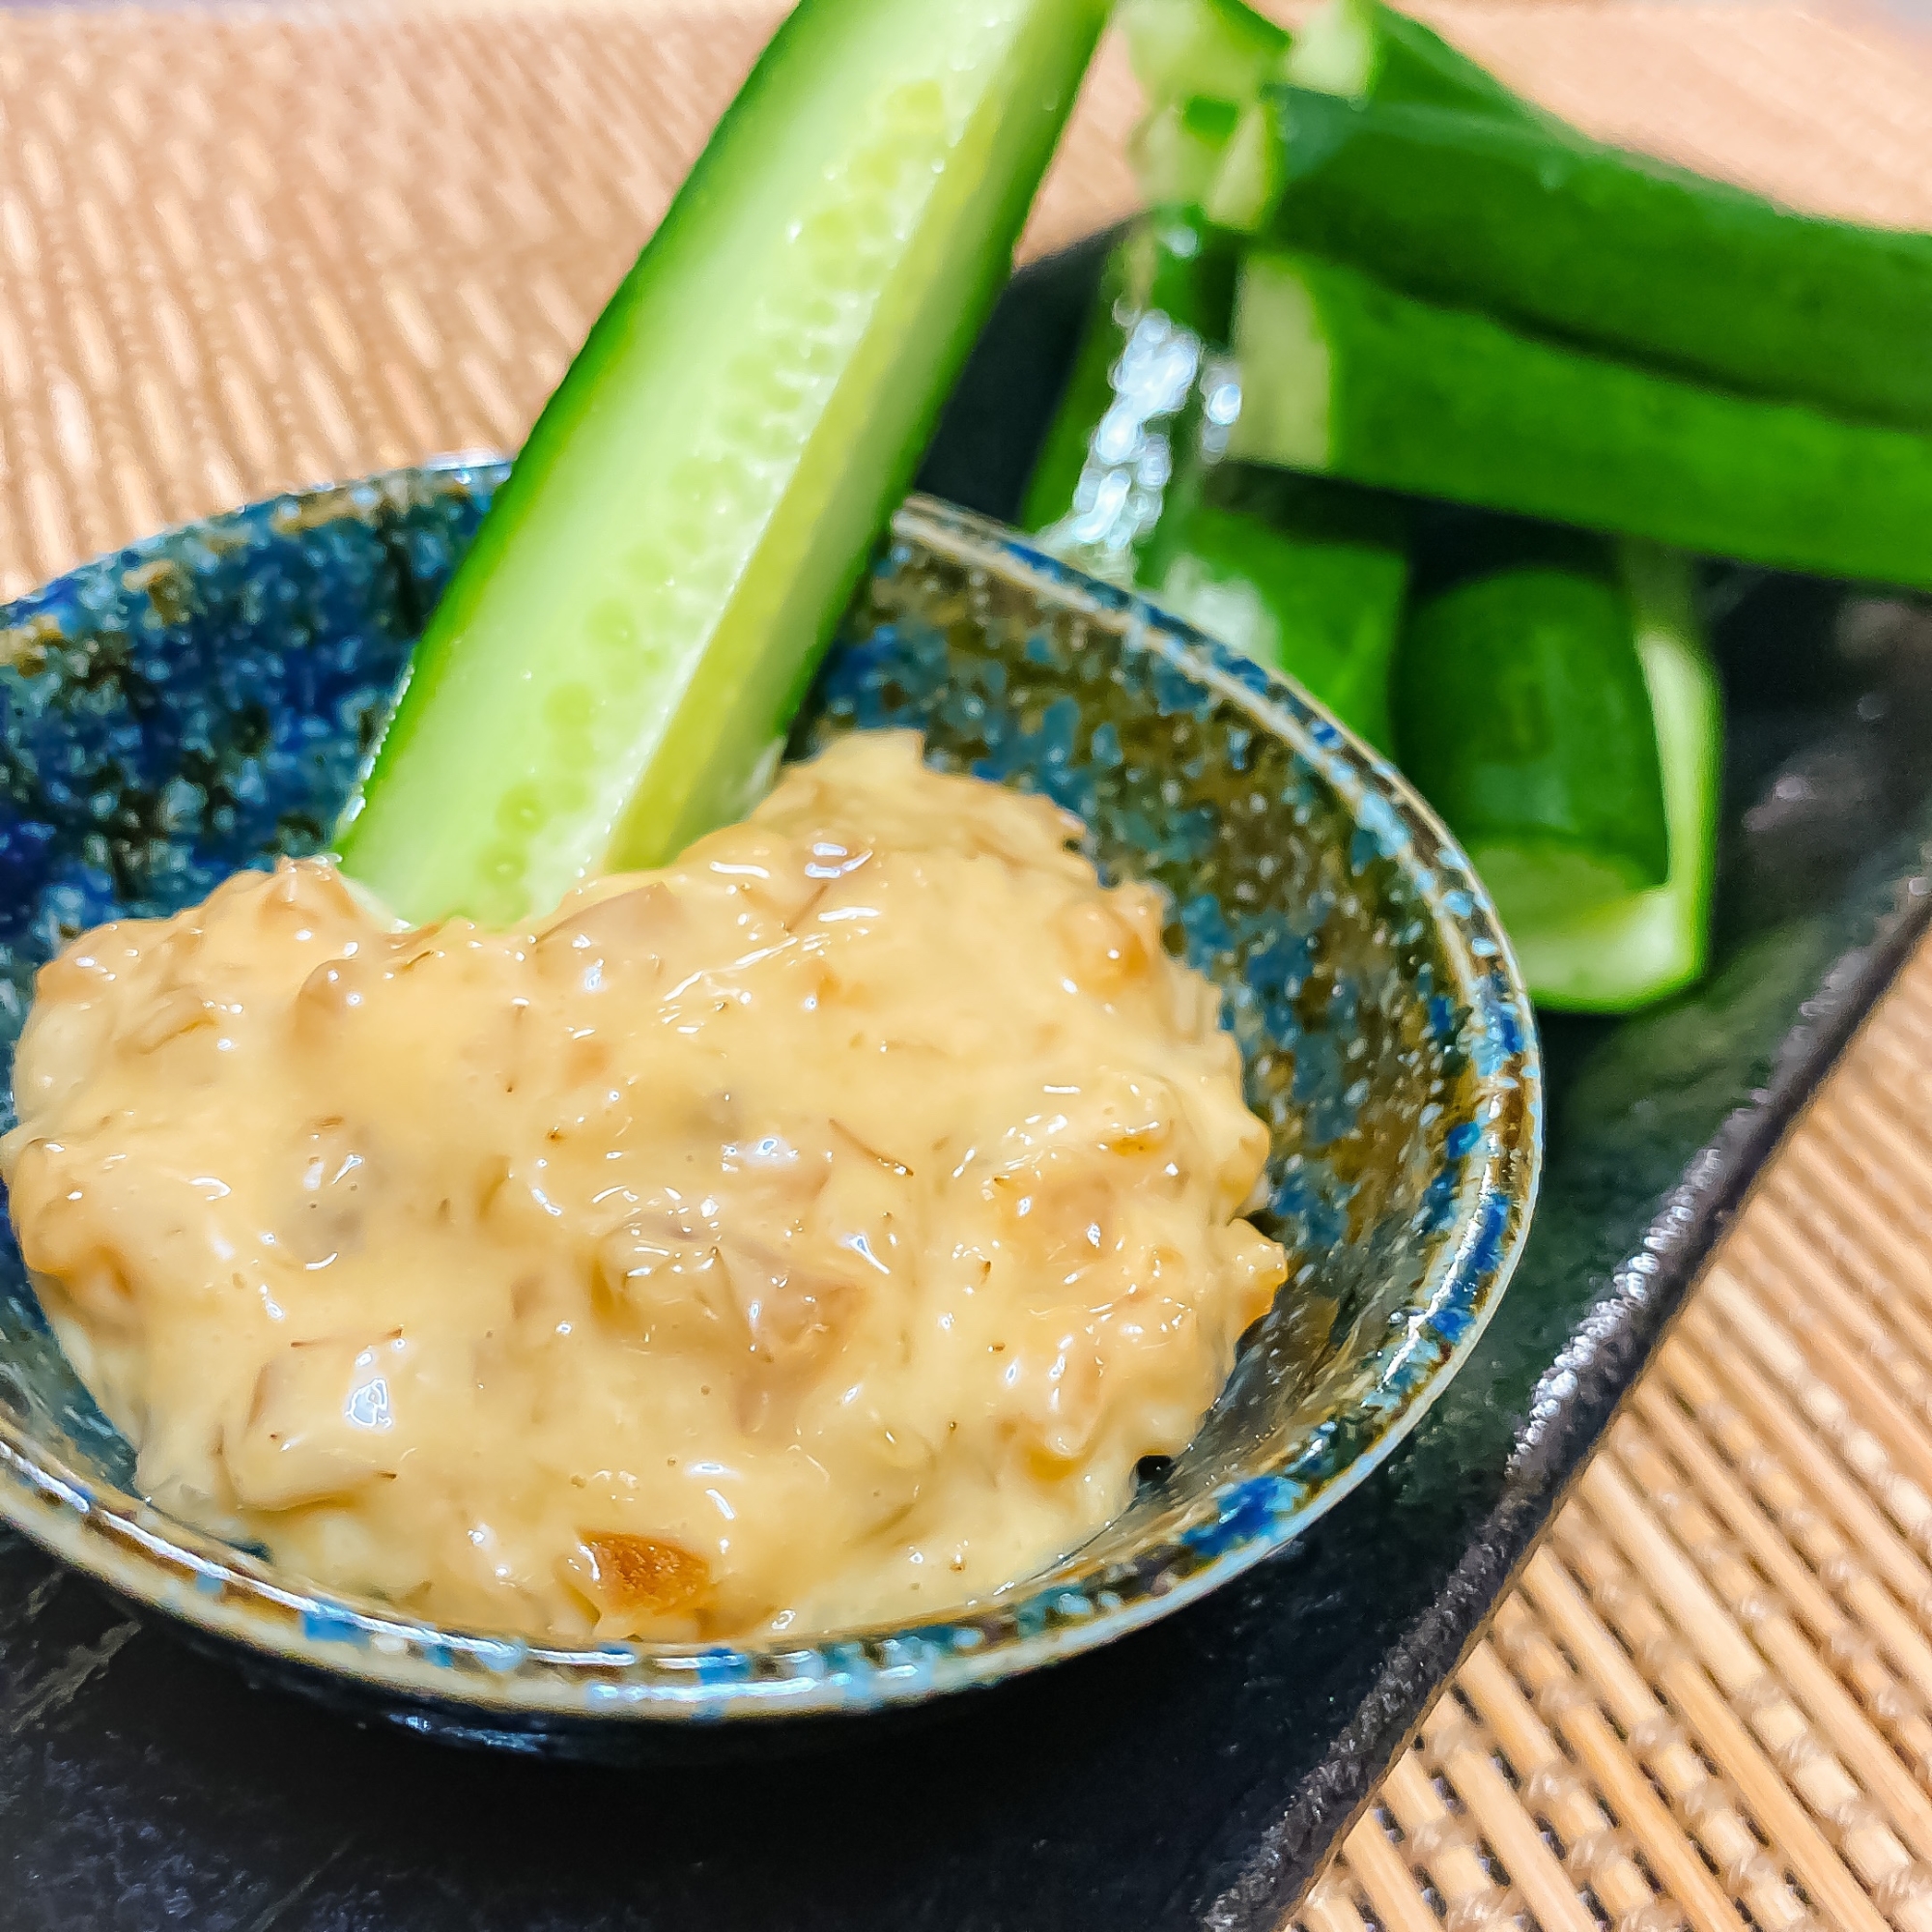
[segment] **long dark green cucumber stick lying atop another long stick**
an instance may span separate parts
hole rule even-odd
[[[1932,236],[1791,214],[1434,106],[1271,97],[1269,238],[1408,294],[1832,413],[1932,427]]]

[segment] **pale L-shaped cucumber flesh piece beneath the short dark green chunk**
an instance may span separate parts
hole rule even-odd
[[[1671,873],[1654,891],[1571,918],[1505,918],[1530,991],[1559,1010],[1631,1012],[1694,985],[1710,964],[1723,699],[1696,620],[1690,560],[1625,543],[1619,562],[1656,719]]]

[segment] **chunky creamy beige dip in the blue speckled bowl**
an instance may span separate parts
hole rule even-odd
[[[556,1638],[920,1615],[1080,1544],[1283,1254],[1219,995],[1076,831],[862,734],[533,931],[301,862],[77,939],[0,1173],[143,1490]]]

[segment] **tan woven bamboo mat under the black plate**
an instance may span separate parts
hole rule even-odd
[[[0,595],[514,446],[782,0],[0,12]],[[1443,0],[1596,131],[1932,226],[1932,54]],[[1028,247],[1130,207],[1095,70]],[[1774,1163],[1306,1932],[1932,1932],[1932,952]]]

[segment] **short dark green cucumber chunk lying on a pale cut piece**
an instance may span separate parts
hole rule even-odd
[[[1519,551],[1410,611],[1401,765],[1470,850],[1569,850],[1629,891],[1662,885],[1658,734],[1611,547],[1530,529]]]

